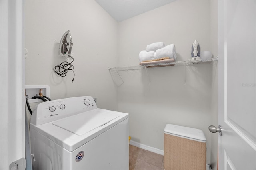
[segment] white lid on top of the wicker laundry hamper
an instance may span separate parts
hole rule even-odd
[[[200,129],[183,127],[179,125],[166,124],[164,133],[178,136],[181,138],[187,138],[190,140],[196,140],[199,142],[206,142],[204,132]]]

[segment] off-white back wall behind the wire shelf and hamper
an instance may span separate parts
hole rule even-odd
[[[138,65],[138,54],[146,45],[174,43],[177,61],[191,58],[196,39],[201,51],[211,49],[210,1],[175,1],[118,24],[118,65]],[[199,128],[207,138],[210,164],[212,124],[212,64],[122,71],[118,88],[118,111],[130,113],[131,140],[163,150],[167,123]]]

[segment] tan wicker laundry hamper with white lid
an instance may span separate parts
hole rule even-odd
[[[206,170],[206,138],[200,129],[167,124],[164,128],[165,170]]]

